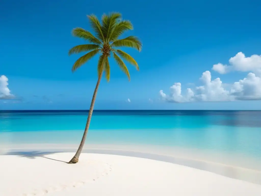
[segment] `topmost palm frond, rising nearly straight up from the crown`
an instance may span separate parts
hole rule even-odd
[[[103,14],[102,16],[102,32],[105,38],[105,42],[109,43],[109,37],[112,30],[115,28],[118,20],[121,19],[121,14],[112,12],[109,15]]]

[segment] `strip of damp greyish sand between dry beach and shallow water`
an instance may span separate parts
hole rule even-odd
[[[26,146],[26,145],[25,145]],[[44,148],[44,146],[49,146],[48,148]],[[76,148],[72,148],[70,145],[27,145],[27,148],[5,148],[6,152],[2,154],[12,155],[15,153],[27,153],[35,157],[41,157],[42,153],[74,153],[76,152]],[[56,147],[54,147],[56,146]],[[62,148],[63,146],[63,148]],[[64,146],[69,146],[64,148]],[[90,148],[92,146],[92,148]],[[95,153],[95,154],[110,154],[110,155],[121,155],[127,157],[135,157],[135,158],[146,158],[151,160],[163,161],[167,163],[173,163],[177,165],[187,166],[194,169],[209,171],[218,175],[226,176],[229,178],[234,178],[238,180],[243,180],[246,182],[251,182],[255,184],[261,185],[261,171],[251,168],[244,168],[235,165],[228,165],[218,162],[211,162],[204,159],[194,159],[193,157],[187,156],[174,156],[165,152],[160,153],[151,153],[153,149],[147,149],[147,152],[144,149],[136,146],[136,151],[131,150],[129,146],[125,149],[121,146],[108,146],[106,148],[102,145],[86,145],[83,149],[83,153]],[[17,146],[16,146],[17,147]],[[29,147],[29,148],[28,148]],[[87,148],[88,147],[88,148]],[[102,148],[103,147],[103,148]],[[110,147],[110,148],[108,148]],[[149,148],[148,146],[146,146]],[[113,149],[114,148],[114,149]],[[118,149],[117,149],[118,148]],[[119,149],[121,148],[121,149]],[[137,148],[140,151],[137,151]],[[155,146],[154,146],[155,148]],[[143,152],[142,152],[143,151]],[[182,151],[180,152],[182,153]],[[29,155],[30,156],[30,155]],[[81,158],[81,157],[80,157]],[[69,161],[69,160],[68,160]]]

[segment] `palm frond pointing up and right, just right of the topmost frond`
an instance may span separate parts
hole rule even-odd
[[[133,30],[133,25],[129,20],[120,21],[118,24],[115,25],[114,29],[112,30],[109,41],[113,42],[115,39],[118,39],[125,31]]]

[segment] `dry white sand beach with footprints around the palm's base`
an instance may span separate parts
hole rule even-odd
[[[137,157],[82,153],[0,156],[1,196],[261,195],[261,185]]]

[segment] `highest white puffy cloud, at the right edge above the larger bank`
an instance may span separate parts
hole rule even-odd
[[[223,65],[218,63],[213,65],[212,70],[225,74],[231,71],[241,71],[241,72],[253,72],[255,74],[261,74],[261,55],[252,55],[246,57],[245,54],[239,52],[234,57],[229,59],[230,65]]]

